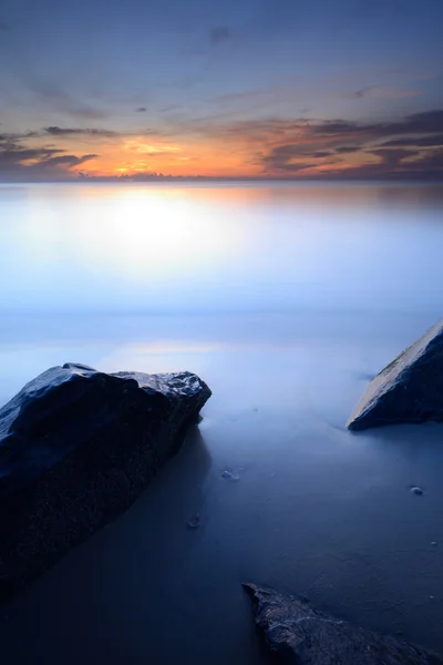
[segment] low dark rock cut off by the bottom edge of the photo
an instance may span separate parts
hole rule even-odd
[[[287,665],[442,665],[440,656],[312,610],[307,603],[255,584],[256,623],[277,662]]]

